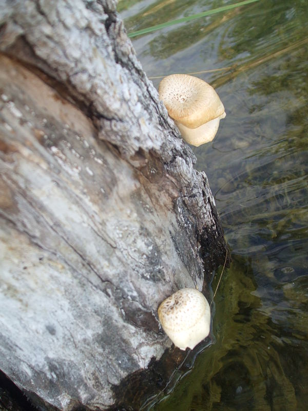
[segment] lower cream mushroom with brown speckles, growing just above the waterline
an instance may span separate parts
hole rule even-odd
[[[209,333],[209,304],[194,288],[183,288],[166,298],[158,308],[158,317],[165,333],[181,350],[194,348]]]

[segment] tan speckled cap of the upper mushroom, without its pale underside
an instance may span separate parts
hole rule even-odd
[[[189,128],[199,127],[224,113],[224,106],[214,88],[188,74],[165,77],[159,85],[159,97],[169,116]]]

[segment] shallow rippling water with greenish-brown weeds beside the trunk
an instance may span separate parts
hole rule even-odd
[[[129,32],[233,3],[119,9]],[[132,39],[148,77],[221,69],[198,77],[227,113],[215,140],[193,149],[232,249],[215,297],[217,341],[151,409],[308,409],[307,21],[307,0],[261,0]]]

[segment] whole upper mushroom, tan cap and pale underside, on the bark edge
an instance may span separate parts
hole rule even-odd
[[[214,139],[226,113],[212,86],[188,74],[171,74],[158,92],[187,143],[198,147]]]

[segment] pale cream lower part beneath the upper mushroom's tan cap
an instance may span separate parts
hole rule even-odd
[[[225,118],[225,116],[226,114],[223,113],[216,119],[210,120],[197,128],[186,127],[178,121],[176,121],[175,123],[177,124],[183,139],[188,144],[199,147],[199,145],[208,143],[209,141],[212,141],[214,139],[219,127],[219,121]]]

